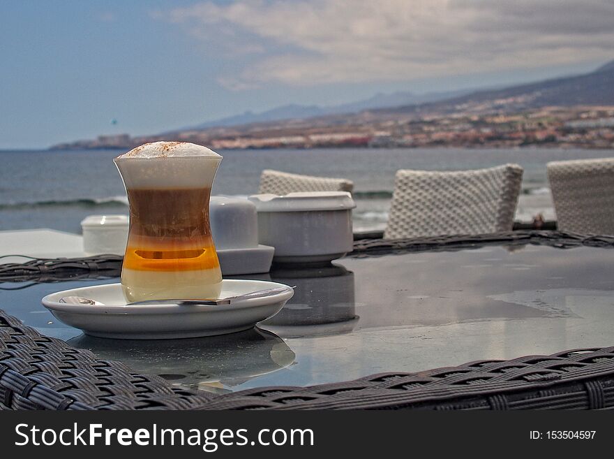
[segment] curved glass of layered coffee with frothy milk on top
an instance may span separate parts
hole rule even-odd
[[[209,197],[221,160],[183,142],[147,143],[114,159],[130,206],[121,268],[128,302],[220,295]]]

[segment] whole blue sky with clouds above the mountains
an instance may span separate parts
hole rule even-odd
[[[613,0],[0,0],[0,149],[585,73],[613,43]]]

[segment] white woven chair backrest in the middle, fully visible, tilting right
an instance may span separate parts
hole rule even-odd
[[[509,231],[523,168],[431,172],[398,170],[384,238]]]

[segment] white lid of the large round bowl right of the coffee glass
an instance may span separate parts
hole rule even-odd
[[[347,191],[304,191],[277,194],[253,194],[249,200],[258,212],[309,212],[315,210],[350,210],[356,207]]]

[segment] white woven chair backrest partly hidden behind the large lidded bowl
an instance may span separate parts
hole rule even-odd
[[[354,182],[343,178],[312,177],[265,169],[260,175],[259,193],[288,194],[294,191],[349,191]]]

